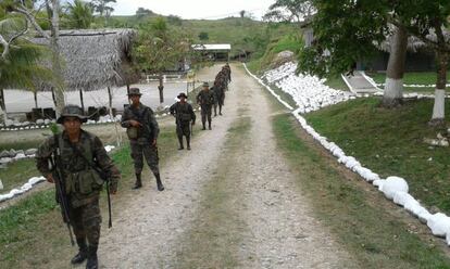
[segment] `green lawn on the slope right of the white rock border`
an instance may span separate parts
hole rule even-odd
[[[307,119],[363,166],[382,177],[405,178],[413,196],[450,214],[449,150],[423,142],[436,138],[437,132],[446,133],[427,126],[433,102],[415,100],[386,110],[378,106],[378,99],[360,99],[311,113]]]

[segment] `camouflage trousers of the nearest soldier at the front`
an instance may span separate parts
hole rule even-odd
[[[97,247],[100,240],[101,215],[99,200],[76,208],[70,206],[68,217],[77,241],[87,239],[89,247]]]

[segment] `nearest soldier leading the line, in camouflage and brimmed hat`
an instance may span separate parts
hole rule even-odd
[[[98,268],[101,223],[99,195],[103,184],[97,169],[110,175],[112,194],[116,193],[121,174],[100,139],[82,129],[86,120],[80,107],[65,106],[58,118],[64,131],[47,139],[39,146],[36,163],[47,181],[57,182],[58,202],[61,208],[64,207],[64,221],[73,227],[79,252],[71,262],[82,264],[87,259],[86,268],[95,269]],[[55,165],[51,162],[52,157],[59,159]],[[51,169],[49,163],[52,164]]]

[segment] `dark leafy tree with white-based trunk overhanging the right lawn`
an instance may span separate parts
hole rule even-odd
[[[317,12],[312,20],[314,42],[300,53],[299,71],[320,76],[347,72],[355,62],[376,55],[375,44],[390,36],[383,104],[386,107],[399,104],[408,46],[403,22],[408,18],[399,14],[392,1],[313,0],[312,3]]]

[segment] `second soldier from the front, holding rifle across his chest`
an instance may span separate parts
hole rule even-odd
[[[158,190],[164,191],[158,166],[159,156],[157,140],[160,133],[160,128],[154,118],[153,111],[140,103],[141,95],[138,88],[129,89],[128,98],[132,100],[132,105],[125,110],[121,123],[122,127],[127,128],[126,133],[132,148],[132,158],[135,163],[136,182],[133,189],[142,187],[141,172],[143,168],[143,155],[146,156],[147,164],[157,178]]]

